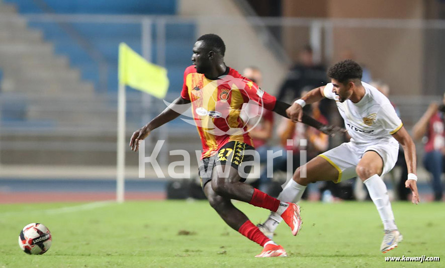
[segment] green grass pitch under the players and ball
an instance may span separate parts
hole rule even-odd
[[[235,205],[253,223],[268,215],[248,204]],[[441,203],[393,203],[404,241],[386,254],[379,251],[383,231],[372,202],[302,202],[301,206],[300,234],[292,236],[282,224],[275,237],[289,257],[254,258],[261,247],[226,226],[205,201],[109,203],[91,209],[73,203],[2,205],[0,267],[445,266]],[[51,230],[52,246],[43,255],[27,255],[19,248],[20,230],[31,222]],[[441,260],[384,259],[402,255],[439,256]]]

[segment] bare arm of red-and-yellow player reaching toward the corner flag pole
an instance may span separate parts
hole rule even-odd
[[[132,151],[137,151],[139,149],[139,141],[148,137],[150,132],[163,124],[170,122],[171,120],[180,116],[183,112],[187,111],[190,104],[189,100],[183,99],[181,97],[177,98],[172,102],[164,111],[162,111],[158,116],[153,118],[149,123],[140,129],[136,130],[130,139],[130,147]]]

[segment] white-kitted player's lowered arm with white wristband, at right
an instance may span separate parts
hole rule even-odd
[[[416,146],[405,127],[400,128],[399,131],[392,134],[392,136],[402,145],[405,152],[405,161],[408,167],[408,180],[405,182],[405,187],[412,191],[412,203],[418,204],[420,199],[419,192],[417,191]]]

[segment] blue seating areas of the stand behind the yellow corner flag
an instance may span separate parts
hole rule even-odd
[[[14,3],[22,13],[43,13],[42,7],[33,0],[5,0]],[[143,15],[174,15],[176,0],[46,0],[47,7],[60,14],[143,14]],[[71,66],[78,68],[82,79],[91,81],[99,90],[99,64],[80,45],[78,39],[68,34],[66,29],[80,36],[87,46],[98,51],[108,65],[108,91],[115,94],[118,88],[118,46],[120,42],[127,43],[138,53],[142,53],[140,24],[99,24],[99,23],[29,23],[30,27],[42,30],[44,38],[54,44],[57,54],[66,55]],[[151,58],[156,63],[156,27],[152,25]],[[184,69],[191,64],[192,46],[196,38],[196,25],[167,24],[165,36],[165,67],[170,79],[169,91],[179,93],[183,83]]]

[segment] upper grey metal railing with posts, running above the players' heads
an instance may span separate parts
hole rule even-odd
[[[247,16],[244,18],[220,16],[220,17],[178,17],[178,16],[141,16],[141,15],[58,15],[58,14],[30,14],[24,16],[29,22],[54,22],[54,23],[116,23],[120,24],[141,24],[141,41],[143,54],[149,58],[148,49],[150,48],[151,24],[156,25],[159,33],[156,36],[159,50],[157,62],[163,65],[165,56],[164,40],[166,24],[196,23],[199,24],[223,24],[229,27],[247,21],[250,25],[256,27],[307,27],[309,36],[307,41],[314,50],[314,58],[321,61],[321,54],[325,53],[327,61],[333,58],[333,29],[339,28],[363,28],[363,29],[433,29],[445,30],[445,20],[420,20],[420,19],[320,19],[320,18],[290,18],[290,17],[255,17]],[[261,34],[261,33],[259,33]],[[264,33],[262,33],[264,34]],[[261,38],[261,37],[259,37]],[[323,41],[322,41],[323,40]],[[277,43],[273,44],[277,47]],[[277,48],[282,56],[286,52],[282,48]]]

